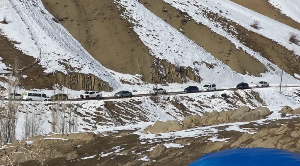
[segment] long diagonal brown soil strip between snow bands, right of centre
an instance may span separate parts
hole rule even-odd
[[[141,0],[144,6],[152,13],[161,17],[168,24],[176,29],[183,29],[184,35],[196,42],[214,57],[227,64],[232,70],[246,74],[246,71],[252,75],[259,76],[266,71],[265,66],[255,58],[241,50],[221,35],[212,32],[208,27],[196,23],[193,19],[185,17],[182,13],[170,4],[162,0]],[[166,9],[166,10],[164,10]],[[188,21],[182,21],[182,20]],[[189,20],[190,19],[190,20]],[[256,66],[256,67],[253,67]]]

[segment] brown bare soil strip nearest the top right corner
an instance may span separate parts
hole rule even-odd
[[[247,7],[250,10],[256,11],[257,13],[270,17],[271,19],[274,19],[278,22],[281,22],[283,24],[289,25],[290,27],[300,30],[299,22],[296,22],[292,18],[281,13],[280,10],[273,7],[268,2],[268,0],[252,0],[252,1],[231,0],[231,1],[241,6]]]

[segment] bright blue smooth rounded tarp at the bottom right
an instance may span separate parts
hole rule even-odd
[[[235,148],[205,154],[189,166],[300,166],[300,154],[272,148]]]

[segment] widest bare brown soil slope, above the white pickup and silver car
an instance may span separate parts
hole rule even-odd
[[[42,1],[102,65],[120,73],[141,74],[144,81],[151,81],[152,56],[113,0]]]

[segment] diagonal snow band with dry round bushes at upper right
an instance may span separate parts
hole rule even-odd
[[[223,35],[224,37],[231,40],[237,47],[241,47],[243,50],[249,52],[251,51],[249,48],[245,48],[239,42],[237,42],[234,37],[229,36],[225,31],[223,31],[220,26],[217,28],[217,23],[211,22],[207,17],[205,17],[205,12],[218,13],[219,15],[233,20],[235,23],[245,27],[250,31],[254,31],[258,34],[261,34],[280,45],[286,47],[287,49],[294,51],[296,55],[300,55],[300,46],[289,43],[289,32],[294,32],[296,34],[300,34],[300,31],[291,28],[288,25],[277,22],[273,19],[270,19],[262,14],[256,13],[253,10],[250,10],[246,7],[243,7],[239,4],[236,4],[229,0],[220,0],[220,1],[192,1],[187,2],[185,0],[164,0],[167,3],[170,3],[172,6],[178,8],[179,10],[188,13],[195,21],[201,22],[204,25],[210,27],[213,31],[218,34]],[[220,12],[226,11],[226,12]],[[250,25],[254,20],[258,20],[260,22],[260,28],[255,29]]]

